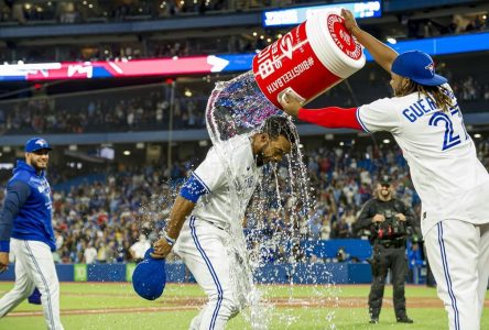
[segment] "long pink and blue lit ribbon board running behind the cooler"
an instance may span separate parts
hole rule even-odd
[[[430,55],[489,51],[489,32],[459,34],[391,44],[396,52],[419,50]],[[63,62],[0,65],[0,81],[185,76],[251,69],[251,54],[228,54],[131,61]],[[372,57],[366,52],[367,61]]]

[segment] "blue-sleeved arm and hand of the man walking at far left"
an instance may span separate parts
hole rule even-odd
[[[9,265],[10,235],[13,220],[30,194],[31,188],[23,182],[13,182],[7,187],[7,196],[0,216],[0,273],[7,271]]]

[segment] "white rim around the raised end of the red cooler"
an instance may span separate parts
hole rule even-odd
[[[327,28],[329,14],[338,13],[337,11],[322,12],[307,20],[307,40],[323,65],[334,75],[345,79],[363,67],[366,57],[362,52],[360,58],[351,58],[336,45]]]

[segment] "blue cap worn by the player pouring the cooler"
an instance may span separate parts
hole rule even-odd
[[[438,86],[447,81],[445,77],[435,74],[433,58],[420,51],[400,54],[392,63],[391,72],[425,86]]]

